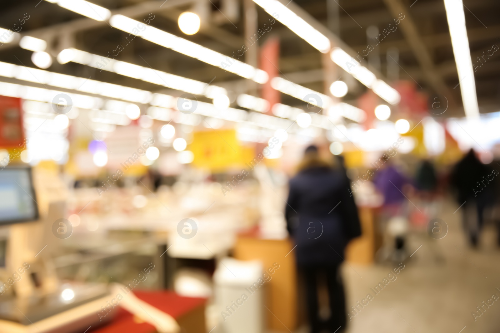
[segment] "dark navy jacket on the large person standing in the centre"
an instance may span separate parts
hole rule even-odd
[[[326,167],[290,179],[285,217],[299,265],[338,264],[349,240],[361,235],[347,178]]]

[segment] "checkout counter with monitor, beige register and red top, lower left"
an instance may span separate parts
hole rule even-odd
[[[1,333],[139,332],[136,325],[142,328],[141,332],[177,333],[181,328],[185,332],[204,332],[195,323],[204,323],[205,300],[168,292],[131,292],[146,281],[154,269],[152,261],[128,285],[61,280],[57,270],[68,260],[61,258],[61,253],[67,253],[68,243],[79,247],[74,255],[81,262],[86,255],[90,258],[87,261],[93,261],[109,275],[99,264],[106,258],[85,249],[81,245],[84,242],[79,243],[82,240],[71,238],[65,202],[52,202],[44,209],[36,198],[30,168],[14,166],[1,170]],[[112,251],[112,246],[108,248],[108,258],[126,252],[126,246],[120,247],[122,253],[117,253],[116,247]],[[140,247],[137,250],[140,252]],[[79,264],[75,259],[73,256],[69,261]],[[134,324],[127,324],[126,330],[115,329],[130,319]]]

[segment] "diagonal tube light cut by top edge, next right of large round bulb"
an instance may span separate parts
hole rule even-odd
[[[325,35],[313,28],[281,2],[277,0],[253,0],[253,2],[320,52],[326,53],[330,50],[330,40]]]

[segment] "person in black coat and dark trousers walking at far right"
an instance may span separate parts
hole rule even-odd
[[[482,228],[484,208],[493,201],[493,184],[489,184],[496,170],[490,171],[475,156],[474,150],[469,152],[453,167],[450,175],[450,185],[456,193],[457,204],[462,206],[463,225],[468,233],[470,244],[477,246],[478,236]],[[489,179],[489,178],[491,179]],[[474,209],[477,223],[470,221],[467,211]]]

